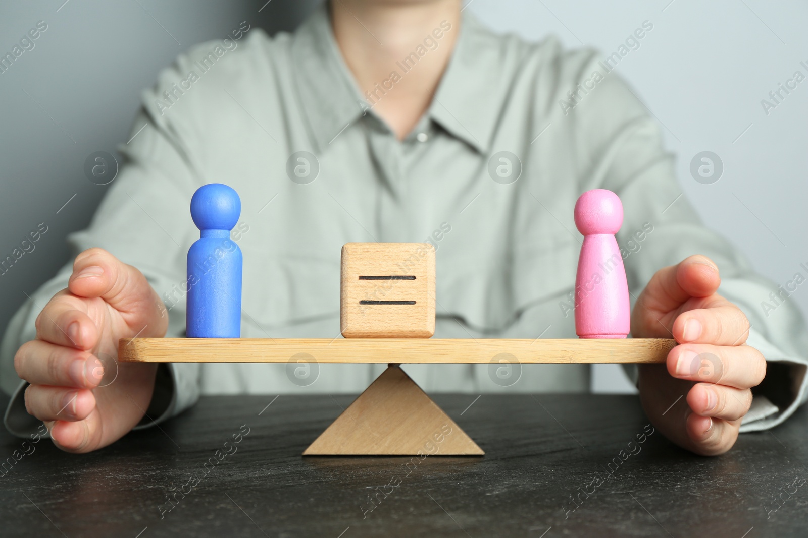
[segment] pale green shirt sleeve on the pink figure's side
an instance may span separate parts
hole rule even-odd
[[[754,401],[741,431],[781,423],[808,398],[808,336],[800,311],[786,300],[787,293],[784,297],[755,273],[726,238],[701,223],[675,179],[674,157],[663,150],[659,124],[629,86],[594,56],[582,65],[582,80],[595,71],[604,74],[569,111],[579,144],[588,150],[588,158],[581,160],[581,190],[612,190],[623,202],[625,220],[617,242],[632,306],[657,270],[692,254],[709,256],[722,276],[718,293],[747,315],[747,344],[767,360],[766,377],[752,390]],[[780,296],[773,303],[772,293]],[[627,371],[636,380],[636,368]]]

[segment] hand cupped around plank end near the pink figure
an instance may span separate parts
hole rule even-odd
[[[716,293],[720,282],[713,261],[689,256],[654,274],[631,315],[633,337],[672,335],[679,344],[667,365],[640,365],[646,415],[668,439],[703,456],[732,448],[750,389],[766,374],[763,355],[746,345],[749,321]],[[687,405],[679,401],[684,395]]]

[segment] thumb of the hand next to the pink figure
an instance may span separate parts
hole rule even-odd
[[[691,297],[709,297],[721,283],[718,266],[707,256],[688,256],[677,265],[659,269],[640,294],[650,310],[673,311]]]

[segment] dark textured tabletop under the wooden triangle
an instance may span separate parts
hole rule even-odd
[[[474,398],[434,399],[485,457],[301,457],[353,399],[327,395],[202,398],[82,456],[40,441],[0,477],[0,536],[808,536],[804,407],[707,458],[643,436],[635,397]]]

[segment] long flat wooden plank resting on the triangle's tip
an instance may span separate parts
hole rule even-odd
[[[318,362],[472,363],[510,353],[523,363],[661,363],[675,340],[406,338],[122,338],[119,361],[287,362],[309,353]],[[503,357],[500,357],[503,358]]]

